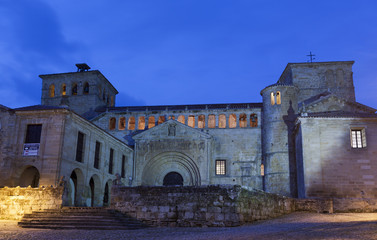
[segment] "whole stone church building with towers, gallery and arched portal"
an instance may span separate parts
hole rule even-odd
[[[356,102],[352,65],[289,63],[262,102],[198,105],[115,106],[118,91],[86,64],[40,75],[41,105],[0,106],[0,185],[64,177],[65,205],[79,206],[108,204],[115,179],[371,203],[377,115]]]

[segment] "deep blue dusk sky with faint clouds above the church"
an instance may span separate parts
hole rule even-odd
[[[0,104],[40,104],[40,74],[100,70],[117,106],[261,102],[287,63],[354,60],[377,108],[377,1],[1,0]]]

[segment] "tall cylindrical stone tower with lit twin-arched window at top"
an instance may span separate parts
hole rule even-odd
[[[285,196],[294,196],[296,189],[289,132],[294,123],[294,113],[297,112],[297,93],[297,87],[279,83],[261,91],[265,190]]]

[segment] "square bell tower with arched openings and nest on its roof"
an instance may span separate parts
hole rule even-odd
[[[42,105],[65,106],[90,118],[99,107],[115,105],[118,91],[98,70],[76,64],[77,72],[40,75]]]

